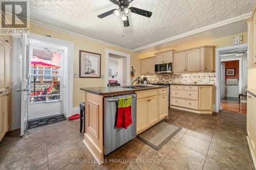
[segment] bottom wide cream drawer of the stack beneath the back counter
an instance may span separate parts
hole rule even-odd
[[[190,109],[198,109],[198,101],[170,98],[170,104],[174,106],[186,107]]]

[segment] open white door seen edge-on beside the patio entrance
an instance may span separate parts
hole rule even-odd
[[[26,129],[28,122],[28,104],[29,104],[29,95],[28,95],[28,80],[29,80],[29,70],[28,70],[28,61],[29,61],[29,42],[27,35],[22,37],[22,54],[21,54],[21,67],[20,67],[20,79],[22,82],[22,89],[17,90],[22,92],[21,100],[21,115],[20,115],[20,136],[24,135],[24,130]]]

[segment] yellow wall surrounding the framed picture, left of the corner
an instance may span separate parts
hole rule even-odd
[[[53,38],[70,41],[74,43],[74,74],[79,74],[79,50],[99,53],[101,54],[101,75],[105,75],[105,49],[127,53],[131,55],[131,67],[134,66],[136,72],[135,77],[140,76],[140,59],[136,53],[122,50],[110,45],[97,43],[86,38],[80,38],[78,36],[62,33],[56,30],[40,27],[37,25],[30,25],[30,32],[40,35],[51,35]],[[84,93],[80,90],[80,87],[99,87],[105,86],[104,79],[74,79],[74,92],[73,92],[73,107],[78,107],[80,102],[84,101]]]

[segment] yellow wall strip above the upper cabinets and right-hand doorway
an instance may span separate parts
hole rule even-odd
[[[247,32],[239,33],[239,34],[243,35],[243,43],[247,43],[247,41],[248,41]],[[239,35],[239,34],[236,34],[236,35]],[[204,46],[204,45],[215,45],[215,46],[217,46],[217,48],[225,47],[225,46],[231,46],[233,36],[235,36],[235,35],[216,38],[216,39],[212,39],[212,40],[208,40],[208,41],[202,41],[200,43],[191,42],[191,43],[189,43],[189,45],[170,46],[169,48],[166,48],[163,51],[173,50],[173,49],[176,50],[176,51],[182,51],[182,50],[188,50],[190,48],[200,47],[200,46]],[[158,52],[159,51],[156,51],[156,52],[153,52],[152,54],[148,54],[148,55],[143,55],[142,54],[140,57],[141,58],[152,57],[152,56],[154,56],[154,53],[158,53]]]

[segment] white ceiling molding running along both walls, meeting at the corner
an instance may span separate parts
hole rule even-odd
[[[206,26],[206,27],[203,27],[203,28],[200,28],[200,29],[197,29],[197,30],[193,30],[193,31],[190,31],[190,32],[187,32],[187,33],[184,33],[184,34],[180,34],[180,35],[177,35],[177,36],[174,36],[174,37],[171,37],[171,38],[167,38],[167,39],[164,39],[162,41],[158,41],[158,42],[155,42],[155,43],[152,43],[152,44],[141,46],[141,47],[135,48],[134,50],[131,50],[129,48],[125,48],[125,47],[122,47],[122,46],[114,45],[112,43],[101,41],[101,40],[98,40],[98,39],[95,39],[95,38],[91,38],[91,37],[88,37],[88,36],[84,36],[84,35],[81,35],[81,34],[77,34],[77,33],[71,32],[71,31],[63,30],[63,29],[60,29],[60,28],[57,28],[57,27],[49,26],[49,25],[47,25],[45,23],[42,23],[42,22],[39,22],[39,21],[30,20],[30,22],[33,23],[34,25],[44,27],[44,28],[47,28],[47,29],[57,30],[59,32],[74,35],[74,36],[77,36],[77,37],[80,37],[80,38],[81,37],[86,38],[86,39],[89,39],[89,40],[94,41],[94,42],[98,42],[98,43],[106,44],[106,45],[111,45],[111,46],[121,48],[123,50],[127,50],[127,51],[130,51],[130,52],[137,52],[137,51],[143,50],[145,48],[149,48],[149,47],[159,45],[159,44],[162,44],[162,43],[165,43],[165,42],[169,42],[169,41],[173,41],[173,40],[176,40],[176,39],[179,39],[179,38],[183,38],[183,37],[186,37],[186,36],[189,36],[189,35],[193,35],[193,34],[200,33],[200,32],[203,32],[203,31],[207,31],[207,30],[210,30],[210,29],[214,29],[214,28],[217,28],[217,27],[228,25],[229,23],[232,23],[232,22],[237,22],[237,21],[240,21],[240,20],[243,20],[243,19],[247,19],[250,16],[251,16],[251,12],[247,13],[247,14],[244,14],[244,15],[241,15],[241,16],[238,16],[238,17],[230,18],[228,20],[224,20],[224,21],[221,21],[221,22],[218,22],[218,23],[214,23],[213,25],[210,25],[210,26]]]

